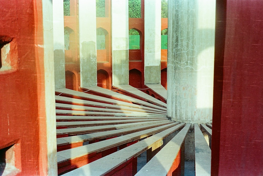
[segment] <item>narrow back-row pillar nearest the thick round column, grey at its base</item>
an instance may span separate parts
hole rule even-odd
[[[144,84],[161,84],[161,0],[144,1]]]

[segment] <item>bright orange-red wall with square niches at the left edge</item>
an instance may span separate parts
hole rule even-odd
[[[46,175],[42,2],[2,0],[0,7],[0,35],[13,39],[17,62],[13,72],[0,69],[0,149],[15,144],[17,175]]]

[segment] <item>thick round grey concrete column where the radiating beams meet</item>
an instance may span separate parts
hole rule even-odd
[[[215,0],[168,0],[167,116],[212,120]]]

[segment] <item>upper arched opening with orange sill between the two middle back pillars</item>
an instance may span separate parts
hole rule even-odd
[[[103,28],[97,28],[97,61],[109,61],[109,33]]]

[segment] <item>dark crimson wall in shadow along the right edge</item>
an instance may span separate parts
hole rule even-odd
[[[212,175],[263,174],[262,8],[216,4]]]

